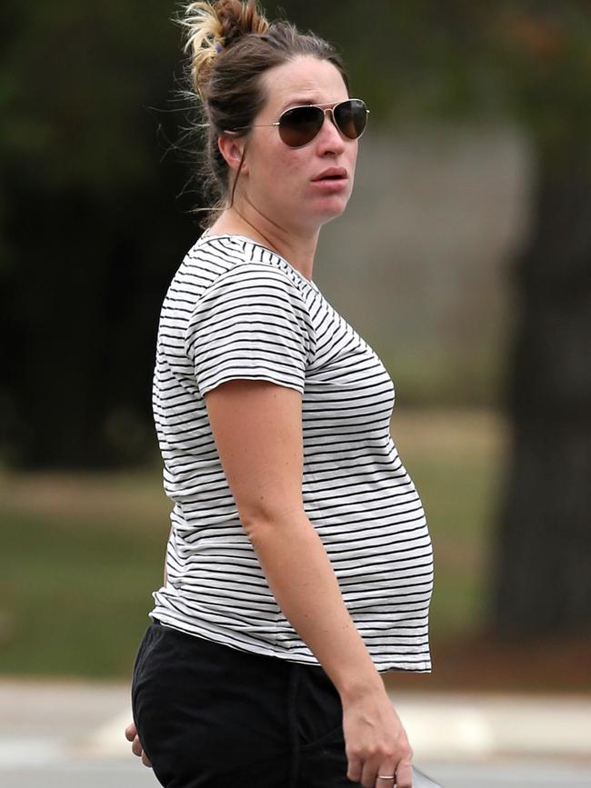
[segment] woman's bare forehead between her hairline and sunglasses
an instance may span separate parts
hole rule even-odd
[[[263,75],[266,108],[283,111],[297,104],[329,104],[348,98],[340,71],[327,60],[298,57]]]

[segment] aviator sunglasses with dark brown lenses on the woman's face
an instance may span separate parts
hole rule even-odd
[[[290,148],[301,148],[311,143],[319,134],[327,112],[332,116],[336,128],[347,139],[356,140],[366,130],[369,110],[365,101],[360,98],[348,98],[329,107],[314,104],[292,106],[286,109],[275,123],[240,126],[234,131],[239,131],[241,128],[275,125],[285,145],[289,145]]]

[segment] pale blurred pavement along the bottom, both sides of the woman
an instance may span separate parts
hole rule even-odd
[[[445,788],[591,788],[591,697],[391,697],[416,765]],[[0,680],[0,786],[154,788],[130,720],[125,684]]]

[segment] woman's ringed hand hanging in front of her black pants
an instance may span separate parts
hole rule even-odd
[[[413,751],[386,690],[343,701],[346,776],[364,788],[412,788]],[[380,774],[396,778],[378,779]]]

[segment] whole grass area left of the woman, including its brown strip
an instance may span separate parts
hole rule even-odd
[[[168,505],[158,476],[5,482],[0,672],[127,675],[162,578]]]

